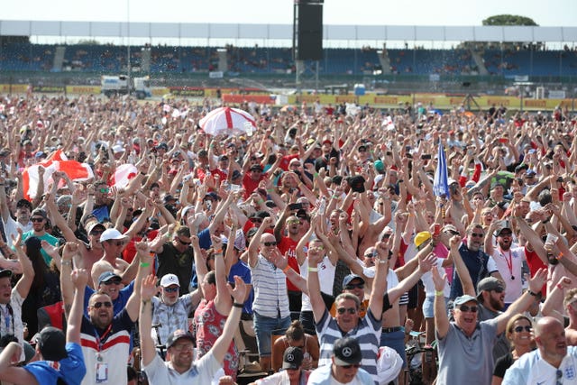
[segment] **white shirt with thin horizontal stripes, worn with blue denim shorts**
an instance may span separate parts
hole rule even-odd
[[[251,267],[251,274],[254,289],[252,310],[270,318],[290,316],[285,273],[259,254],[256,265]]]

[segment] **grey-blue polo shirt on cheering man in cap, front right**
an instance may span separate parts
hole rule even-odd
[[[435,331],[439,353],[436,382],[444,385],[487,385],[493,375],[497,320],[480,322],[469,337],[453,322],[444,338]]]

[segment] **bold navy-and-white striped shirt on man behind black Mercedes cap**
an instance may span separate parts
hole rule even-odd
[[[361,345],[362,353],[362,369],[368,371],[375,384],[379,383],[377,378],[377,353],[379,351],[381,320],[375,319],[371,310],[367,310],[366,316],[359,319],[357,327],[343,333],[336,324],[336,320],[325,309],[325,313],[320,322],[316,326],[316,335],[321,344],[320,357],[318,359],[318,366],[331,364],[331,356],[333,355],[333,345],[336,340],[343,337],[353,337]]]

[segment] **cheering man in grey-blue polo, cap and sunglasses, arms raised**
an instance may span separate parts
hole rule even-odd
[[[458,267],[459,270],[463,270]],[[436,382],[444,385],[486,385],[491,381],[494,360],[492,347],[497,336],[505,331],[511,316],[526,311],[547,280],[545,269],[528,280],[529,289],[499,316],[479,322],[479,300],[464,294],[453,301],[454,321],[449,321],[444,301],[444,278],[432,270],[435,283],[435,336],[438,341],[439,371]],[[463,286],[472,292],[471,280]],[[470,289],[469,289],[470,288]]]

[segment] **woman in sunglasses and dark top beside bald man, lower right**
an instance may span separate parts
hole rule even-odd
[[[533,325],[527,316],[517,314],[508,320],[506,336],[508,342],[511,344],[512,350],[510,353],[500,357],[495,362],[495,370],[493,371],[493,380],[491,385],[500,385],[505,377],[505,371],[517,361],[517,359],[525,353],[533,350],[535,344],[531,331]]]

